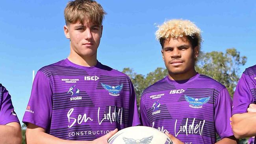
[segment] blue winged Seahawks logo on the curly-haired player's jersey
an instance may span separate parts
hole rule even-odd
[[[185,95],[185,100],[189,102],[189,107],[194,109],[201,109],[202,105],[207,103],[210,100],[210,96],[206,98],[192,98]]]

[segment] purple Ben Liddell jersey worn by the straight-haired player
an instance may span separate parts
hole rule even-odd
[[[94,140],[140,124],[128,76],[99,62],[85,67],[68,59],[37,72],[22,121],[66,140]]]

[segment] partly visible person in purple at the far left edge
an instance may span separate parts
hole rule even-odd
[[[11,95],[0,84],[0,144],[21,143],[20,122],[14,111]]]

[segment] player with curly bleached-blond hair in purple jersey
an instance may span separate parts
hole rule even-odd
[[[232,101],[228,90],[198,74],[201,31],[189,20],[169,20],[156,31],[168,76],[144,90],[143,126],[169,133],[174,144],[236,144],[230,126]]]

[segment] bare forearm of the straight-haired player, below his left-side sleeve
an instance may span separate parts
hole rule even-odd
[[[92,144],[90,141],[63,140],[43,131],[26,131],[27,144]]]

